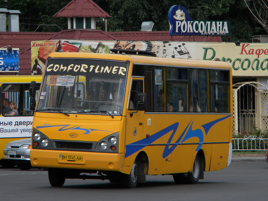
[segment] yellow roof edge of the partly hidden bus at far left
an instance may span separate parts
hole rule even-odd
[[[42,75],[0,75],[0,84],[30,83],[31,81],[41,83],[42,77]]]

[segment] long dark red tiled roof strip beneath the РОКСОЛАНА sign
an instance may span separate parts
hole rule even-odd
[[[120,40],[222,42],[220,36],[170,36],[169,31],[126,31],[108,33],[115,38],[120,38]]]

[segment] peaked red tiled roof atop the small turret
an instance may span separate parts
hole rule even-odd
[[[72,0],[53,17],[111,17],[92,0]]]

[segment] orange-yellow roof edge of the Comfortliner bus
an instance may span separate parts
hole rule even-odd
[[[164,66],[193,66],[207,68],[226,68],[231,69],[230,64],[222,61],[210,61],[202,59],[180,59],[164,57],[148,57],[135,54],[101,54],[101,53],[66,53],[54,52],[49,54],[48,58],[93,58],[93,59],[111,59],[119,61],[129,61],[134,64],[155,64]]]

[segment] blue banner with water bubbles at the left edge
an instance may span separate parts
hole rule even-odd
[[[11,51],[6,48],[0,49],[0,72],[18,72],[18,55],[18,48]]]

